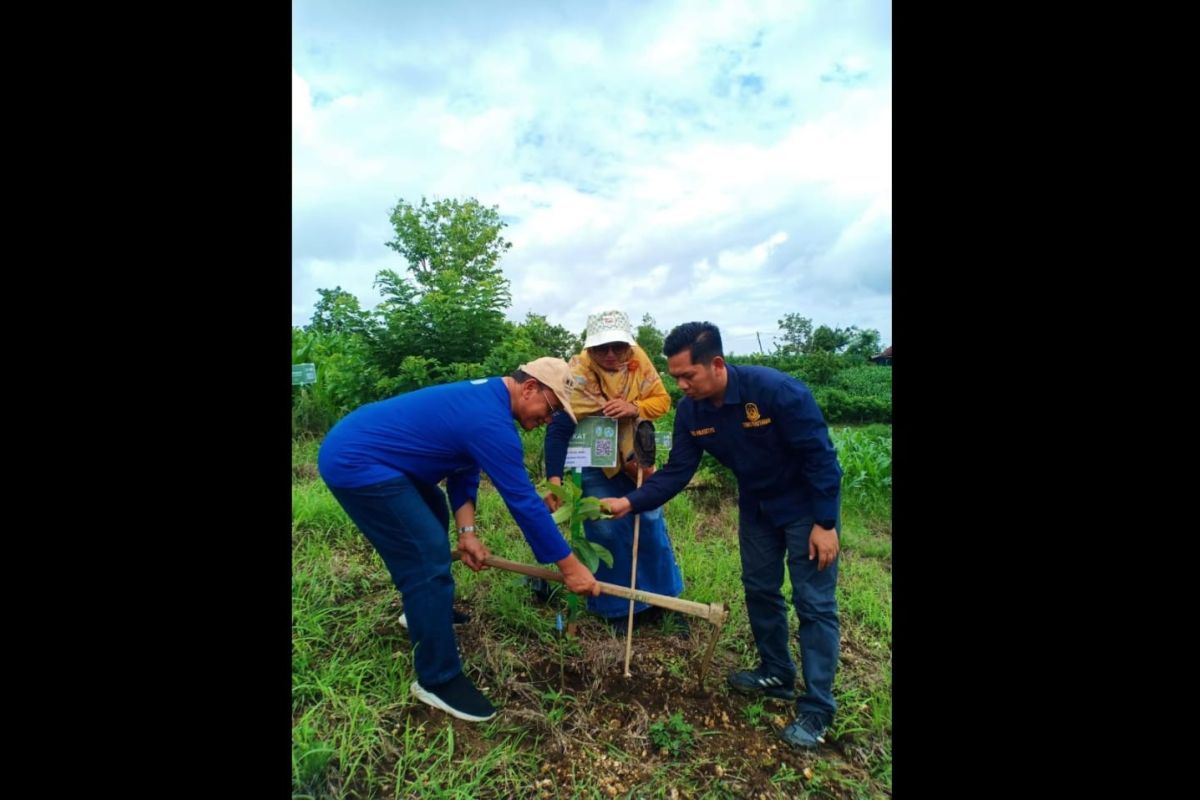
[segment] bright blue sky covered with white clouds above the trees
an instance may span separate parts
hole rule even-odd
[[[294,0],[292,321],[364,307],[401,198],[496,205],[509,319],[892,343],[888,0]]]

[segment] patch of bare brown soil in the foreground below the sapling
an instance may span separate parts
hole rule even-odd
[[[467,603],[456,606],[470,613]],[[456,628],[462,652],[481,655],[486,663],[485,669],[468,669],[468,675],[500,709],[500,718],[536,734],[522,740],[542,759],[526,796],[574,796],[593,788],[608,796],[640,796],[638,787],[665,766],[678,768],[680,775],[668,796],[790,798],[808,796],[808,790],[815,796],[858,798],[864,788],[870,796],[890,795],[868,770],[872,756],[878,757],[874,748],[882,742],[865,734],[862,740],[854,734],[842,739],[827,734],[827,744],[814,751],[787,745],[776,732],[794,716],[792,704],[767,699],[763,714],[749,718],[745,708],[756,698],[738,694],[725,682],[737,667],[733,654],[718,648],[704,686],[700,685],[698,670],[713,632],[708,622],[694,619],[686,638],[665,627],[635,630],[631,678],[624,676],[624,634],[613,633],[594,616],[581,620],[574,640],[558,646],[532,642],[520,651],[502,644],[504,637],[478,615]],[[842,652],[844,667],[872,657],[851,643],[844,643]],[[478,666],[480,660],[468,661]],[[506,678],[498,680],[498,675]],[[558,703],[556,714],[547,692],[572,699]],[[676,712],[691,726],[694,744],[671,753],[653,741],[650,728]],[[486,753],[494,745],[494,739],[482,736],[484,726],[454,720],[420,703],[406,706],[394,722],[406,716],[410,724],[444,726],[450,720],[463,758]],[[770,780],[786,764],[806,776],[808,783],[818,762],[824,775],[833,770],[845,781],[820,781],[820,790],[812,792],[816,784],[780,786]],[[406,780],[420,786],[420,776]]]

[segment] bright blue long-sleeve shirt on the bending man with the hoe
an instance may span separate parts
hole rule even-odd
[[[476,504],[484,469],[540,563],[571,552],[526,473],[502,378],[428,386],[362,405],[325,435],[317,468],[338,488],[401,475],[427,485],[445,479],[455,511],[468,500]]]

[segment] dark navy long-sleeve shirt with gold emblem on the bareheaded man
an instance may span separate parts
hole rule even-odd
[[[684,397],[676,409],[666,467],[625,498],[656,509],[683,491],[706,451],[738,479],[738,507],[761,506],[776,525],[802,517],[836,519],[841,465],[812,392],[770,367],[726,365],[720,407]]]

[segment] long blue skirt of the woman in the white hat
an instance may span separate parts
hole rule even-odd
[[[624,473],[605,477],[600,469],[583,469],[583,497],[623,498],[635,488],[637,483]],[[634,566],[634,515],[626,515],[622,519],[589,519],[583,523],[583,533],[589,542],[612,552],[612,566],[605,566],[601,561],[595,571],[596,581],[628,587]],[[642,522],[638,523],[637,588],[670,597],[678,597],[683,591],[683,575],[676,564],[674,551],[671,549],[661,507],[643,511]],[[647,608],[647,603],[634,603],[635,613]],[[588,610],[600,616],[625,616],[629,614],[629,601],[610,595],[588,597]]]

